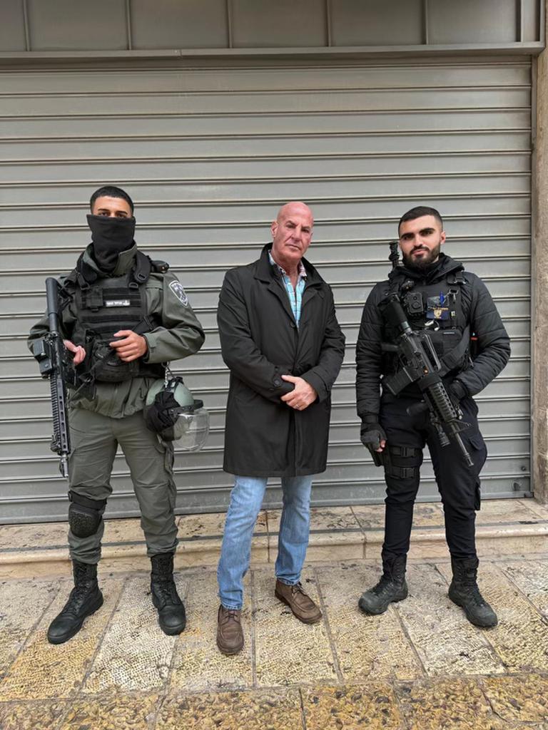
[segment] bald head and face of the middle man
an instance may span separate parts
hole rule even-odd
[[[292,201],[278,210],[278,216],[270,226],[273,259],[290,275],[297,271],[310,245],[313,224],[312,211],[308,205]]]

